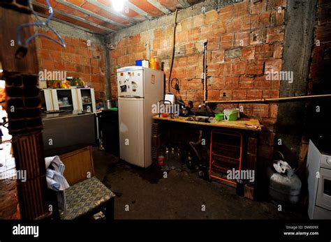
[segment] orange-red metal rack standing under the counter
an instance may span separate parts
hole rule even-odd
[[[226,178],[228,170],[242,169],[242,134],[212,130],[209,153],[209,180],[219,179],[237,185]]]

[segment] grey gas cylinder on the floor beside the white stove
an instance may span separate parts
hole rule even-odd
[[[270,197],[277,202],[297,204],[302,186],[300,178],[286,161],[275,160],[273,166],[276,172],[271,168],[268,170]]]

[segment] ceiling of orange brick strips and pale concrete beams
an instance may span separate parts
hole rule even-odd
[[[49,0],[54,10],[52,20],[92,33],[108,34],[138,22],[167,15],[176,8],[188,8],[203,0],[122,0],[124,9],[117,11],[113,1],[121,0]],[[47,17],[45,0],[34,0],[34,10]]]

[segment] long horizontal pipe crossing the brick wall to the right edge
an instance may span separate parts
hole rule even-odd
[[[331,98],[331,94],[321,94],[321,95],[308,95],[308,96],[297,96],[297,97],[287,97],[287,98],[261,98],[252,100],[224,100],[224,101],[206,101],[207,103],[277,103],[279,101],[286,100],[303,100],[311,98]]]

